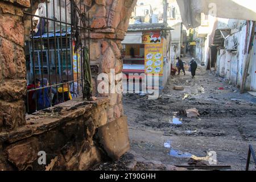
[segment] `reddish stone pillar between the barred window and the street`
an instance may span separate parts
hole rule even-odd
[[[90,27],[94,30],[90,34],[90,60],[92,65],[100,65],[100,73],[110,75],[111,69],[114,69],[115,75],[122,73],[121,41],[125,38],[136,2],[137,0],[84,0],[90,14]],[[96,79],[93,80],[94,90],[99,84]],[[115,84],[118,84],[117,80]],[[122,94],[110,93],[104,96],[110,98],[108,122],[122,117]]]

